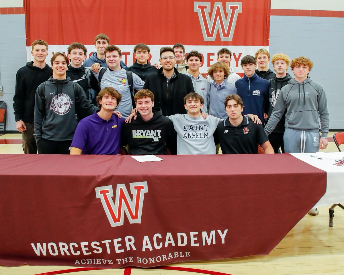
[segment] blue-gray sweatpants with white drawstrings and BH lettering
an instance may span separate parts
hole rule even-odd
[[[286,129],[283,135],[284,152],[316,153],[319,152],[320,133]]]

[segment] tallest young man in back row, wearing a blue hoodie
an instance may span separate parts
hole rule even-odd
[[[84,62],[85,67],[91,67],[95,63],[99,63],[100,67],[107,68],[108,65],[105,59],[105,48],[110,44],[109,36],[104,33],[99,33],[94,38],[94,46],[96,47],[96,52],[94,52],[89,58]],[[127,65],[121,60],[122,68],[127,68]]]

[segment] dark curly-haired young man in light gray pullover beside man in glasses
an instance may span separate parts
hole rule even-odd
[[[203,113],[208,113],[210,82],[200,74],[200,66],[203,61],[202,55],[197,51],[191,51],[186,55],[186,64],[189,69],[186,75],[191,77],[195,92],[204,98]]]

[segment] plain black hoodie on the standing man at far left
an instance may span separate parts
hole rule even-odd
[[[13,97],[15,121],[23,120],[24,122],[33,123],[37,87],[53,75],[53,70],[48,65],[41,69],[32,64],[33,61],[26,63],[15,76]]]

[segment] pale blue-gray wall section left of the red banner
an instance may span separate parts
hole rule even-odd
[[[7,104],[6,131],[17,131],[13,114],[15,75],[25,63],[25,15],[0,15],[0,79],[3,87],[0,100]]]

